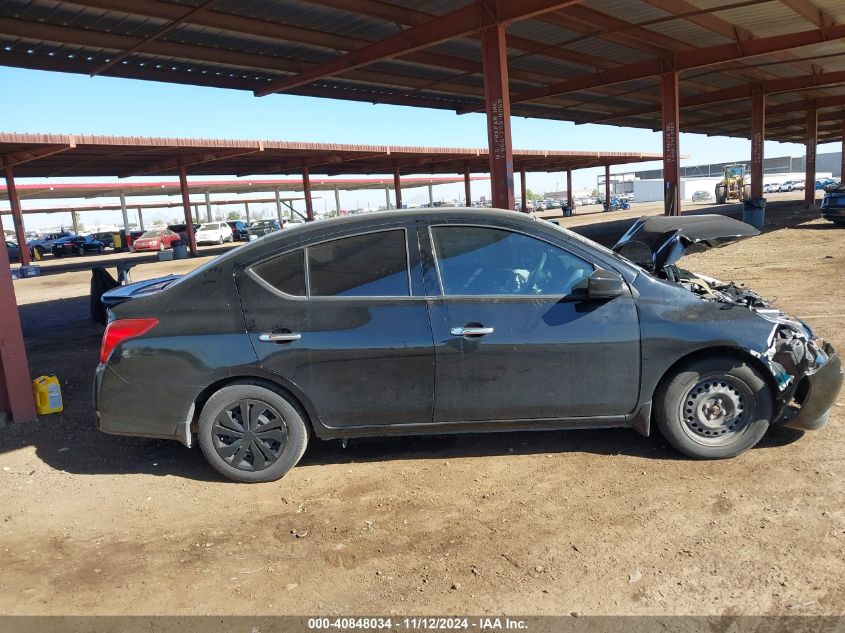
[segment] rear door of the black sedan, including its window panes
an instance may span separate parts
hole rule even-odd
[[[413,223],[335,235],[238,276],[261,365],[325,426],[429,424],[434,351]]]

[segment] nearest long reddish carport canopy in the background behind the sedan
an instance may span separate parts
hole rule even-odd
[[[565,171],[661,158],[661,154],[642,152],[526,149],[514,151],[514,167],[537,172]],[[15,178],[176,176],[180,167],[191,176],[301,174],[303,168],[327,176],[393,174],[394,170],[400,174],[464,174],[485,173],[489,169],[487,149],[476,147],[15,133],[0,133],[0,161],[13,167]],[[112,188],[128,191],[132,185],[127,181]],[[312,189],[318,186],[336,185],[334,181],[312,178]]]

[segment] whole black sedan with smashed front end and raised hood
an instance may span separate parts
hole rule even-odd
[[[676,265],[756,234],[650,218],[614,252],[478,209],[281,231],[103,296],[97,424],[198,440],[245,482],[281,477],[312,436],[656,427],[731,457],[770,424],[823,426],[842,384],[805,323]]]

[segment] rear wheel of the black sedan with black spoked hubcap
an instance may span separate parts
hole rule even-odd
[[[232,481],[276,481],[308,446],[305,413],[283,391],[244,381],[220,389],[202,409],[199,445],[214,470]]]

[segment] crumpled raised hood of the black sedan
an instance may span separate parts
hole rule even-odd
[[[700,253],[759,234],[750,224],[724,215],[659,215],[634,222],[613,250],[646,270],[657,272],[688,253]]]

